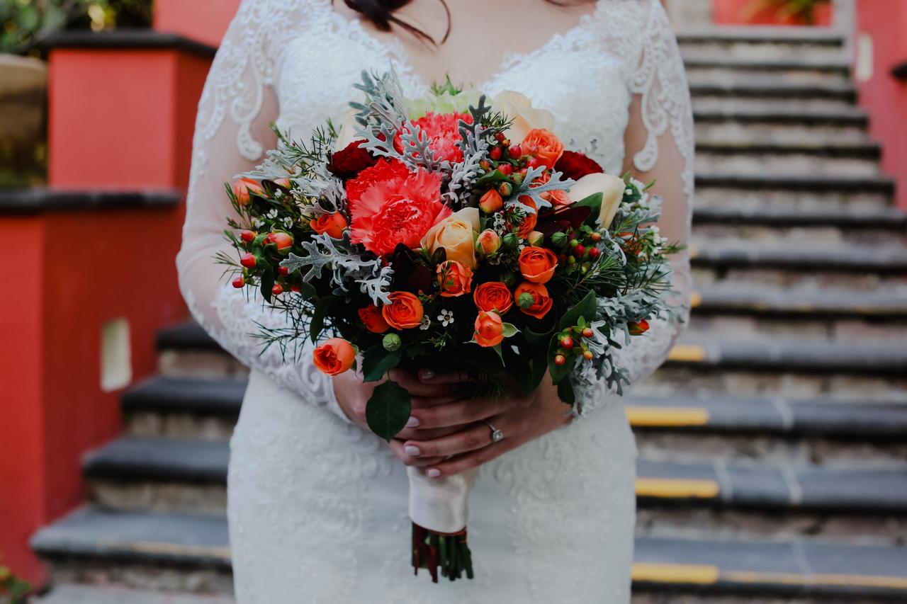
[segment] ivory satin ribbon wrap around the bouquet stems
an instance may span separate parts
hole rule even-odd
[[[429,531],[463,531],[469,521],[469,493],[477,469],[454,476],[429,478],[422,468],[406,468],[409,476],[409,518]]]

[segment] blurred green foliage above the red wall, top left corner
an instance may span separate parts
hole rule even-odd
[[[39,54],[61,29],[95,31],[151,24],[151,0],[0,0],[0,53]]]

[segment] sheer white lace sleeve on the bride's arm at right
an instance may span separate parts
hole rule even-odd
[[[633,94],[624,170],[642,182],[657,181],[650,191],[664,200],[658,228],[668,240],[687,243],[695,142],[689,86],[677,39],[658,0],[620,2],[623,4],[617,10],[626,12],[623,18],[610,21],[606,44],[619,45],[613,52],[624,60]],[[626,27],[628,23],[633,27]],[[635,39],[630,40],[629,35]],[[632,337],[629,346],[617,351],[615,360],[628,369],[631,386],[639,385],[664,363],[687,324],[692,286],[688,252],[675,255],[671,268],[673,291],[669,302],[682,309],[682,316],[674,321],[650,321],[647,333]],[[607,404],[612,397],[603,382],[597,383],[585,397],[583,412]]]

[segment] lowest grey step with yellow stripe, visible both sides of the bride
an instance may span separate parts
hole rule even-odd
[[[105,570],[116,582],[123,578],[137,582],[144,579],[141,570],[147,575],[180,564],[187,575],[208,573],[207,581],[191,578],[194,590],[229,593],[224,583],[229,548],[223,518],[85,508],[39,531],[33,546],[51,560],[58,578],[84,579],[83,568],[93,562],[89,568]],[[902,547],[639,537],[633,580],[639,594],[694,589],[704,594],[846,594],[851,601],[860,601],[907,597],[905,569],[907,549]]]

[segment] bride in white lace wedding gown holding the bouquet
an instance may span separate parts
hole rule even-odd
[[[433,81],[523,93],[567,146],[664,200],[668,239],[688,240],[689,93],[659,0],[243,0],[200,103],[178,258],[192,314],[251,367],[230,443],[229,526],[240,604],[629,603],[635,457],[619,398],[600,385],[583,417],[550,385],[532,396],[458,400],[456,375],[395,375],[414,396],[388,446],[365,427],[369,385],[261,355],[260,302],[219,280],[230,251],[223,183],[276,144],[343,122],[362,70],[393,67],[409,96]],[[688,301],[685,254],[675,303]],[[639,384],[681,326],[657,321],[620,351]],[[485,420],[500,429],[493,442]],[[475,580],[434,585],[410,565],[406,466],[426,476],[479,467],[471,497]]]

